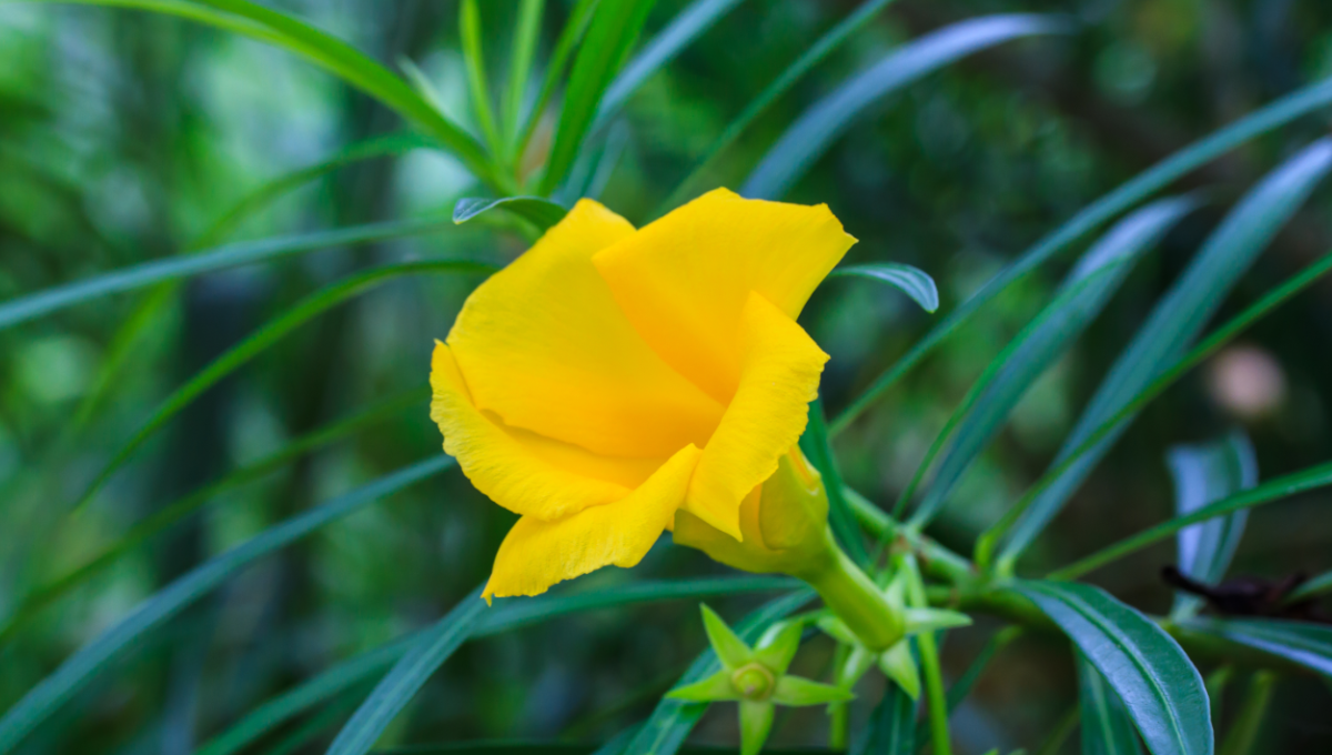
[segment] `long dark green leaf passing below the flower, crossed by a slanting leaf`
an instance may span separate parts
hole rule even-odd
[[[510,601],[482,615],[472,636],[489,636],[541,622],[601,609],[657,601],[699,599],[767,590],[791,590],[799,582],[775,577],[726,577],[635,582],[570,595],[559,591]],[[249,711],[234,726],[206,742],[196,755],[232,755],[314,706],[369,679],[393,664],[417,640],[418,632],[333,664],[318,675]],[[627,740],[626,740],[627,742]]]

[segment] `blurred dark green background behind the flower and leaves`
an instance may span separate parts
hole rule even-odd
[[[466,120],[457,5],[426,0],[276,3],[389,65],[413,61],[444,108]],[[659,0],[649,33],[683,3]],[[515,3],[482,3],[485,44],[502,73]],[[551,0],[541,55],[567,13]],[[634,222],[658,214],[701,152],[757,92],[855,8],[832,0],[746,0],[653,76],[607,137],[619,150],[593,190]],[[916,265],[946,313],[1000,266],[1122,181],[1220,125],[1332,76],[1332,5],[1323,0],[899,0],[779,100],[706,181],[735,186],[785,128],[846,76],[907,40],[991,12],[1040,11],[1082,25],[1063,39],[1002,45],[948,67],[858,120],[789,194],[827,202],[860,242],[851,261]],[[502,80],[497,73],[496,80]],[[932,534],[968,550],[1039,477],[1106,369],[1223,209],[1263,172],[1327,130],[1325,115],[1259,138],[1180,186],[1216,201],[1134,272],[1067,358],[1032,386],[968,473]],[[553,123],[538,129],[549,141]],[[402,128],[369,99],[294,59],[152,13],[0,4],[0,300],[222,241],[410,217],[446,217],[478,186],[425,149],[350,162],[216,237],[249,192],[348,144]],[[1315,194],[1240,282],[1233,314],[1332,246],[1332,196]],[[210,236],[212,234],[212,236]],[[445,226],[369,245],[201,276],[97,300],[0,332],[0,615],[35,586],[85,563],[127,529],[332,422],[390,402],[378,421],[210,498],[7,638],[0,710],[140,599],[314,502],[440,449],[426,383],[442,338],[478,277],[396,281],[302,326],[209,390],[141,449],[97,499],[72,513],[91,478],[164,395],[300,297],[372,264],[450,253],[507,261],[521,234]],[[914,370],[836,450],[854,486],[890,502],[967,387],[1048,301],[1068,260],[1015,286]],[[145,306],[148,297],[160,302]],[[147,326],[117,338],[139,314]],[[872,282],[830,281],[805,325],[832,354],[823,395],[836,411],[936,320]],[[1332,457],[1332,285],[1320,285],[1156,401],[1023,563],[1040,573],[1172,511],[1167,449],[1244,429],[1263,478]],[[397,403],[392,403],[397,402]],[[1279,578],[1332,567],[1327,494],[1253,514],[1236,567]],[[488,574],[513,517],[457,473],[413,487],[258,563],[141,643],[28,743],[33,752],[190,752],[274,692],[332,662],[434,621]],[[1155,611],[1164,543],[1095,575]],[[661,543],[634,573],[721,574],[702,554]],[[738,618],[763,597],[714,602]],[[999,625],[954,632],[960,672]],[[466,644],[390,731],[393,742],[558,738],[601,742],[642,718],[705,647],[693,602],[601,611]],[[799,663],[817,675],[826,639]],[[1205,660],[1204,660],[1205,671]],[[954,718],[958,748],[1035,752],[1076,695],[1067,648],[1026,638],[1006,648]],[[320,752],[364,696],[324,715]],[[876,692],[872,683],[862,695]],[[1332,748],[1332,691],[1283,679],[1264,752]],[[863,718],[866,706],[854,715]],[[718,706],[694,740],[734,743]],[[1227,715],[1233,715],[1233,706]],[[312,716],[313,720],[313,716]],[[281,734],[281,732],[280,732]],[[773,746],[826,742],[822,711],[779,722]],[[280,739],[253,748],[265,751]],[[1076,751],[1076,738],[1062,752]]]

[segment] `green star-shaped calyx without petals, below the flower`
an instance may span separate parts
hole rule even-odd
[[[801,622],[774,625],[750,647],[711,609],[701,609],[703,629],[722,668],[706,679],[677,687],[666,696],[695,703],[738,702],[742,755],[757,755],[762,750],[777,706],[822,706],[855,696],[847,688],[786,672],[801,646],[805,629]]]

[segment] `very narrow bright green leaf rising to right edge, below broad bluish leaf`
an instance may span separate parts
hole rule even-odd
[[[1211,357],[1213,353],[1220,350],[1221,346],[1231,342],[1236,336],[1243,333],[1249,325],[1257,320],[1267,316],[1271,310],[1276,309],[1279,305],[1284,304],[1288,298],[1303,292],[1304,289],[1313,285],[1315,281],[1332,272],[1332,253],[1324,254],[1317,262],[1313,262],[1303,272],[1291,277],[1287,282],[1281,284],[1276,289],[1271,290],[1255,302],[1252,306],[1229,320],[1225,325],[1217,329],[1212,336],[1203,340],[1201,344],[1193,348],[1188,354],[1184,354],[1175,366],[1166,370],[1159,378],[1152,381],[1136,398],[1130,401],[1120,409],[1114,417],[1107,419],[1092,433],[1087,441],[1078,446],[1063,463],[1055,466],[1052,470],[1047,471],[1038,482],[1034,485],[1012,507],[1010,507],[1003,517],[995,522],[988,530],[986,530],[980,538],[976,541],[975,562],[982,569],[988,569],[991,558],[994,557],[994,549],[998,546],[999,541],[1007,534],[1022,514],[1035,502],[1035,499],[1044,493],[1051,485],[1054,485],[1070,467],[1072,467],[1078,461],[1096,447],[1107,435],[1115,431],[1120,422],[1134,417],[1142,410],[1143,406],[1150,403],[1158,395],[1166,391],[1169,386],[1181,378],[1191,369],[1197,366],[1200,362]],[[1000,563],[998,565],[999,574],[1008,574],[1012,571],[1014,562],[1022,553],[1004,554]]]

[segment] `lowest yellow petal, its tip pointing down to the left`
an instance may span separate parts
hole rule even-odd
[[[635,566],[679,509],[699,457],[694,446],[681,449],[647,482],[614,503],[554,522],[518,519],[496,554],[482,597],[539,595],[557,582],[602,566]]]

